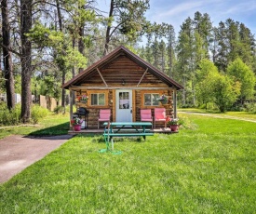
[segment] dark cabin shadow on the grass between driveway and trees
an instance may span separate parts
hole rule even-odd
[[[35,130],[29,136],[50,136],[50,135],[66,135],[69,130],[69,122],[59,124],[53,127],[46,127],[43,129]]]

